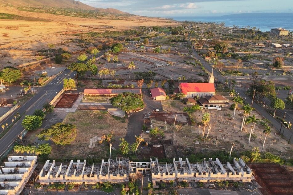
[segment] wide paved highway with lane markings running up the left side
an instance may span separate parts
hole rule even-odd
[[[103,55],[106,51],[100,51],[96,56]],[[87,59],[92,58],[93,55],[90,55],[87,57]],[[67,74],[70,74],[68,76]],[[68,69],[63,70],[55,79],[53,79],[50,83],[48,83],[46,86],[41,87],[38,89],[38,93],[33,96],[30,100],[26,101],[23,105],[21,105],[18,109],[16,109],[13,113],[10,114],[10,116],[6,117],[5,120],[3,120],[0,125],[2,124],[11,124],[11,120],[13,119],[13,116],[19,112],[21,115],[22,113],[25,113],[14,125],[11,127],[11,129],[0,139],[0,157],[5,154],[7,149],[13,145],[14,140],[18,137],[18,135],[24,130],[21,122],[24,119],[25,115],[32,115],[35,111],[35,109],[43,109],[43,104],[47,101],[50,102],[57,93],[63,88],[63,79],[64,78],[74,78],[75,72],[72,72]]]

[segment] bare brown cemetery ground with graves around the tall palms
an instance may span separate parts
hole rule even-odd
[[[225,95],[225,93],[222,93]],[[230,98],[230,97],[229,97]],[[162,101],[163,110],[167,112],[179,112],[183,111],[184,105],[180,100],[168,100]],[[192,118],[197,124],[201,123],[201,117],[204,110],[199,110],[192,113]],[[232,145],[235,144],[234,151],[250,150],[253,147],[259,147],[262,149],[262,144],[265,135],[262,133],[263,126],[257,124],[253,136],[248,144],[248,137],[250,133],[250,124],[245,125],[244,131],[240,131],[242,123],[242,111],[237,110],[235,119],[232,120],[233,110],[228,108],[222,108],[222,110],[208,110],[210,113],[211,131],[209,139],[201,140],[199,138],[198,125],[195,127],[191,125],[178,126],[177,129],[173,125],[167,125],[168,131],[165,132],[165,136],[173,139],[174,145],[184,145],[196,148],[209,148],[209,149],[222,149],[228,151]],[[261,115],[257,111],[252,111],[250,116],[255,114],[256,118],[262,119]],[[158,126],[165,128],[165,121],[153,121]],[[180,130],[178,129],[180,128]],[[201,127],[202,132],[202,127]],[[283,140],[278,133],[278,130],[272,129],[270,135],[267,136],[265,148],[263,151],[271,152],[277,156],[288,158],[293,156],[293,149],[286,140]]]

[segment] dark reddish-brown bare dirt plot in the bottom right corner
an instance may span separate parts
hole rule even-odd
[[[251,164],[260,191],[266,195],[293,194],[293,172],[280,165]]]

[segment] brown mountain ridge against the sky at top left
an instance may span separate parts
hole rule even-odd
[[[14,6],[30,6],[30,7],[57,7],[71,8],[81,10],[93,10],[106,14],[128,14],[114,8],[96,8],[75,0],[0,0],[0,4],[11,4]]]

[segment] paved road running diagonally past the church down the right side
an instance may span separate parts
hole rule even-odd
[[[194,52],[194,48],[193,52]],[[209,72],[212,71],[212,66],[208,61],[205,61],[205,59],[201,58],[196,52],[194,52],[194,57],[197,59],[201,60],[202,64],[205,64],[206,70],[208,70]],[[225,77],[223,77],[221,74],[219,74],[217,71],[214,71],[214,77],[218,78],[219,81],[224,80],[225,81]],[[249,96],[247,96],[244,92],[246,91],[245,88],[239,87],[239,86],[235,86],[235,91],[237,93],[239,93],[239,95],[245,99],[245,101],[251,105],[251,98]],[[255,102],[253,103],[252,107],[254,107],[254,109],[256,109],[263,117],[265,117],[267,120],[271,121],[273,126],[277,129],[277,131],[279,132],[279,129],[281,127],[281,124],[279,123],[279,121],[277,121],[274,117],[272,117],[269,113],[267,113],[266,109],[264,109],[262,106],[256,104]],[[284,133],[283,133],[284,131]],[[287,138],[287,140],[291,138],[291,143],[293,143],[293,131],[291,131],[290,129],[285,128],[284,126],[282,127],[282,131],[281,133],[284,134],[284,137]]]

